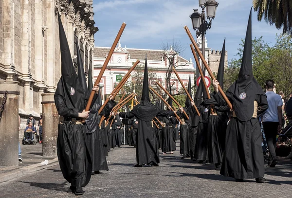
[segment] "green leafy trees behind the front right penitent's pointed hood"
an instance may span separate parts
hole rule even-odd
[[[277,92],[284,91],[287,96],[292,92],[292,36],[276,36],[274,46],[269,46],[262,37],[255,38],[252,48],[253,73],[257,82],[265,88],[265,81],[272,79],[275,81]],[[232,59],[228,63],[228,68],[224,73],[224,89],[236,81],[241,61],[244,40],[239,45],[238,59]]]

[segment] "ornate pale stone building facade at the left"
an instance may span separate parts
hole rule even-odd
[[[0,82],[17,81],[21,128],[41,112],[41,94],[55,92],[61,76],[58,17],[73,59],[79,44],[85,71],[92,70],[93,0],[0,0]]]

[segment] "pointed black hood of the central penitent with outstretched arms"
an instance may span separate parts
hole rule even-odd
[[[138,104],[135,108],[133,108],[132,111],[139,119],[143,121],[151,121],[159,112],[159,109],[156,108],[152,103],[150,103],[147,57],[145,59],[141,104]]]

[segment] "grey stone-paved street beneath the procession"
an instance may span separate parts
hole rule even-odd
[[[178,144],[177,144],[178,145]],[[235,182],[212,164],[181,160],[179,151],[163,155],[159,167],[133,167],[135,149],[122,145],[110,151],[110,171],[93,175],[83,198],[291,198],[292,161],[266,167],[267,183]],[[58,165],[0,184],[1,198],[74,198]]]

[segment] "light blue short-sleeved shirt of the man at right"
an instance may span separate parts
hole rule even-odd
[[[267,91],[267,100],[269,108],[263,116],[263,122],[279,122],[278,107],[283,105],[280,95],[274,93],[274,91]]]

